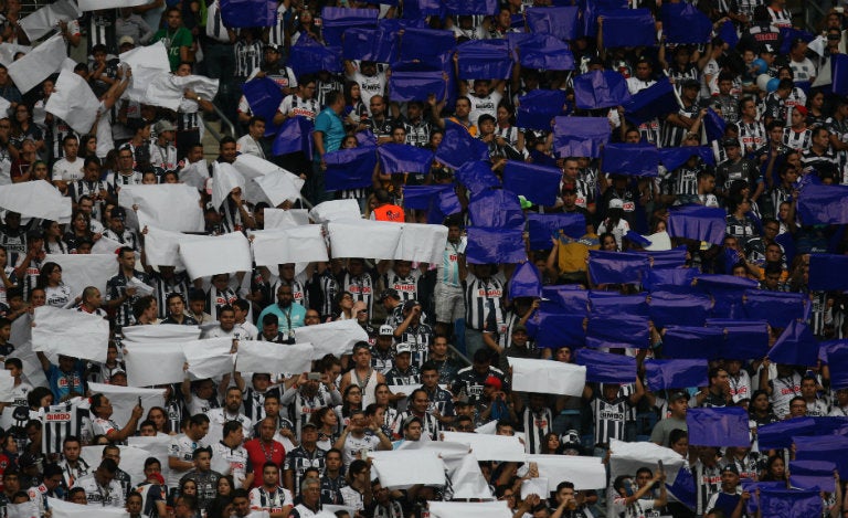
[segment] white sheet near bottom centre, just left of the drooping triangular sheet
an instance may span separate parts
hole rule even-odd
[[[445,464],[427,450],[369,452],[368,457],[383,487],[406,489],[416,484],[445,485]],[[415,469],[410,469],[411,466]]]

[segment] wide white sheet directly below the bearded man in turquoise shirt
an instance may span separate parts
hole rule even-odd
[[[241,340],[235,367],[239,372],[267,372],[292,374],[309,372],[312,367],[311,343],[273,343],[262,340]]]

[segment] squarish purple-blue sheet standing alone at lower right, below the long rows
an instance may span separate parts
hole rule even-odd
[[[689,444],[696,446],[751,445],[748,411],[740,406],[689,409],[686,411]]]

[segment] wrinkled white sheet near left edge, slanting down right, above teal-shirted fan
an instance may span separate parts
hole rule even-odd
[[[47,357],[65,355],[73,358],[106,362],[109,323],[96,315],[52,306],[35,308],[32,349]]]

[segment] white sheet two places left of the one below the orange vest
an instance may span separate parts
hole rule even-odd
[[[241,232],[181,242],[180,258],[192,279],[253,268],[251,244]]]

